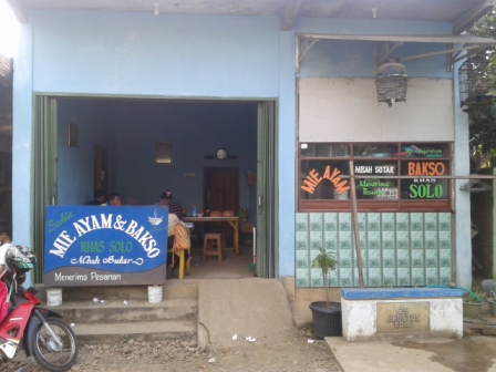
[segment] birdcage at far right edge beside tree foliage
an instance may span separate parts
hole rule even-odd
[[[487,76],[488,60],[466,60],[458,70],[459,106],[486,104],[492,101],[488,94],[490,81]]]

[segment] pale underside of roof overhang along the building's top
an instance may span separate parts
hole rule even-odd
[[[282,30],[297,18],[353,18],[452,22],[457,34],[489,12],[494,0],[7,0],[21,22],[32,9],[143,11],[154,14],[280,17]]]

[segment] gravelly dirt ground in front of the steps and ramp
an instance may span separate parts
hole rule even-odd
[[[309,340],[314,340],[313,343]],[[38,372],[31,356],[18,352],[1,371]],[[342,372],[322,340],[309,329],[276,339],[249,342],[238,338],[228,349],[210,345],[198,350],[196,337],[183,340],[80,345],[78,362],[70,371],[224,371],[224,372]]]

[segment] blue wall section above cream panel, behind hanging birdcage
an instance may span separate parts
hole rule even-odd
[[[452,25],[447,22],[404,22],[381,20],[342,20],[342,19],[298,19],[298,33],[330,34],[451,34]],[[378,43],[381,51],[384,43]],[[390,46],[393,45],[390,43]],[[301,78],[373,78],[373,43],[345,40],[320,40],[316,43],[303,62],[300,63]],[[397,48],[391,56],[403,58],[445,50],[445,44],[407,43]],[[437,55],[402,62],[410,78],[452,79],[446,71],[446,56]]]

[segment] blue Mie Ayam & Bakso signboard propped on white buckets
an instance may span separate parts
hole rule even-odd
[[[49,206],[44,285],[163,285],[168,208]]]

